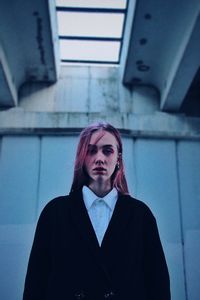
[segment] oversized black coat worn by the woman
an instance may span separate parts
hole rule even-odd
[[[41,213],[23,300],[169,300],[167,265],[149,208],[119,195],[101,247],[82,192]]]

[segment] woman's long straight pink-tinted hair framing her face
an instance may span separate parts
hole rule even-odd
[[[92,134],[95,131],[104,130],[110,132],[117,140],[118,143],[118,155],[119,155],[119,167],[116,167],[111,176],[111,185],[115,187],[122,194],[129,194],[128,185],[124,173],[124,163],[122,158],[122,141],[119,131],[111,124],[106,122],[97,122],[89,125],[83,129],[80,133],[80,140],[77,147],[75,166],[74,166],[74,178],[71,186],[71,192],[78,190],[89,183],[89,176],[85,171],[85,158],[88,151],[88,145]]]

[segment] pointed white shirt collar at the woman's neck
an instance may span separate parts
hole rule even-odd
[[[113,211],[116,201],[118,192],[116,188],[113,188],[105,197],[98,197],[90,188],[88,188],[86,185],[83,186],[83,200],[85,202],[85,206],[87,210],[89,210],[94,203],[95,200],[101,198],[103,199],[106,204],[110,207],[110,209]]]

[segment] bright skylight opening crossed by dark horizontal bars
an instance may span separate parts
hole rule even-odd
[[[126,1],[57,0],[57,5],[61,62],[119,63]]]

